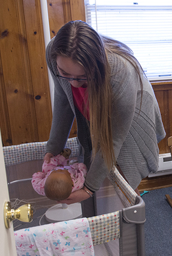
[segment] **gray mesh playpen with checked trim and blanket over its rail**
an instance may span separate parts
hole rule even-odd
[[[41,170],[45,145],[46,142],[3,147],[10,200],[34,201],[39,208],[54,205],[54,201],[36,194],[31,185],[32,174]],[[79,158],[77,138],[69,138],[65,147],[72,150],[70,158]],[[94,194],[94,208],[93,217],[36,227],[31,222],[28,228],[14,231],[17,255],[145,255],[144,201],[116,168]]]

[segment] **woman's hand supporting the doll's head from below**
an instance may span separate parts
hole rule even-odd
[[[85,190],[87,190],[90,194],[93,194],[93,192],[84,187],[81,190],[74,191],[69,195],[67,199],[58,201],[57,203],[66,203],[68,205],[71,203],[80,203],[80,201],[84,201],[90,197],[90,195],[85,192]]]

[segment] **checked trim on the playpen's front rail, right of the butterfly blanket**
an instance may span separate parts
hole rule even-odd
[[[119,211],[90,217],[88,221],[94,246],[120,237]]]

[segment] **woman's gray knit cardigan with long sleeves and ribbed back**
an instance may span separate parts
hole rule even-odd
[[[50,56],[53,39],[47,46],[46,60],[54,80],[54,110],[50,138],[46,152],[59,154],[65,143],[76,116],[80,154],[88,167],[85,180],[93,192],[100,188],[108,174],[102,154],[96,154],[91,162],[92,143],[89,127],[83,115],[74,107],[71,85],[56,77],[56,60]],[[122,172],[135,190],[149,172],[158,170],[158,143],[165,136],[158,102],[151,84],[142,75],[142,104],[140,80],[135,68],[123,57],[108,55],[111,67],[111,86],[114,93],[112,106],[112,130],[114,152]],[[103,104],[103,102],[102,102]]]

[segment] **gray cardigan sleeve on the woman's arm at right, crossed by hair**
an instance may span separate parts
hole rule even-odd
[[[111,122],[114,152],[117,159],[133,121],[140,81],[135,68],[122,57],[114,57],[110,61],[111,86],[114,93]],[[107,166],[99,150],[89,168],[85,180],[86,187],[92,191],[98,190],[107,174]]]

